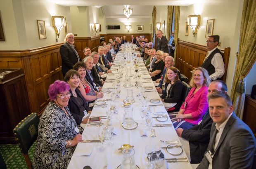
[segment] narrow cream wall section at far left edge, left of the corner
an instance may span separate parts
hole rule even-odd
[[[0,41],[0,50],[19,50],[18,32],[12,0],[0,0],[0,17],[5,41]]]

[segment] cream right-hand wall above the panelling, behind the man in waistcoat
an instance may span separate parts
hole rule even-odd
[[[230,59],[228,65],[227,85],[228,93],[232,88],[232,81],[235,71],[236,52],[238,50],[239,32],[242,18],[243,0],[201,0],[198,4],[188,7],[180,7],[179,35],[180,40],[206,45],[205,31],[207,19],[215,19],[214,35],[220,35],[220,49],[230,47]],[[189,36],[185,36],[185,22],[187,15],[200,14],[201,25],[197,35],[193,37],[192,29]]]

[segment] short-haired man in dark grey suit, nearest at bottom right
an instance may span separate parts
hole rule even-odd
[[[252,169],[256,167],[256,139],[251,129],[233,113],[230,96],[208,96],[213,120],[209,146],[197,169]]]

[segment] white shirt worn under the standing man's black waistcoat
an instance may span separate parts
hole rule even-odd
[[[211,54],[211,52],[213,52],[217,47],[215,47],[214,49],[212,49],[211,51],[208,51],[208,55],[204,58],[205,59],[208,58],[208,56]],[[216,80],[219,77],[222,77],[225,73],[225,68],[224,68],[224,62],[222,59],[222,56],[220,53],[216,53],[213,56],[213,59],[211,59],[211,64],[214,66],[215,72],[213,74],[210,75],[211,80]]]

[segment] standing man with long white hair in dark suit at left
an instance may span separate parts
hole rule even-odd
[[[59,48],[59,53],[62,58],[62,74],[65,77],[67,71],[73,68],[76,62],[81,61],[73,43],[74,35],[73,33],[66,34],[64,44]]]

